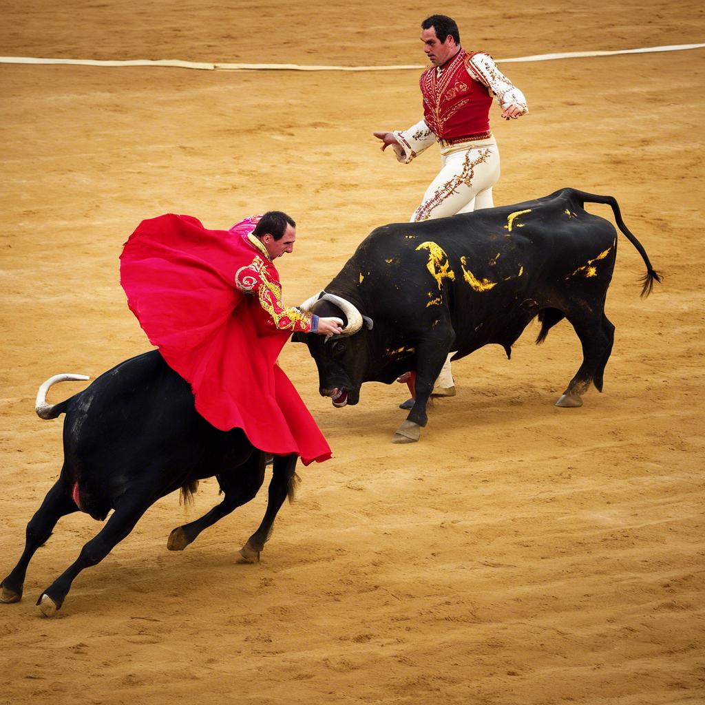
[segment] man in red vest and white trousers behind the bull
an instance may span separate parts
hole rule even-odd
[[[403,164],[434,142],[441,147],[441,171],[412,214],[412,222],[493,207],[492,188],[500,174],[497,143],[489,125],[493,95],[507,120],[529,111],[524,94],[489,54],[462,49],[454,20],[434,15],[421,27],[424,52],[431,61],[419,80],[424,117],[408,130],[374,133],[383,142],[381,149],[392,147]],[[453,394],[446,361],[434,395]]]

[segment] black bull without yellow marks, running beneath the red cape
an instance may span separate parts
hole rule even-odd
[[[264,453],[240,429],[219,431],[203,419],[188,384],[156,350],[126,360],[59,404],[39,404],[45,393],[40,389],[37,396],[42,418],[66,412],[63,467],[27,525],[25,550],[1,584],[2,602],[21,599],[30,559],[64,515],[80,509],[103,520],[114,509],[75,563],[39,596],[37,605],[47,616],[61,607],[78,573],[105,558],[159,498],[181,488],[188,501],[197,481],[213,476],[224,493],[223,501],[209,513],[171,532],[167,547],[180,551],[250,501],[262,486]],[[295,455],[274,458],[266,513],[240,550],[244,560],[259,559],[276,513],[287,495],[293,498],[296,460]]]

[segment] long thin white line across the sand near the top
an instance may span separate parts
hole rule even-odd
[[[702,49],[705,44],[670,44],[666,47],[619,49],[618,51],[567,51],[563,54],[534,54],[516,59],[497,59],[497,63],[522,61],[553,61],[555,59],[582,59],[584,56],[615,56],[617,54],[648,54],[654,51],[684,51]],[[35,59],[30,56],[0,56],[0,63],[68,63],[80,66],[171,66],[172,68],[198,68],[204,71],[419,71],[427,66],[303,66],[298,63],[208,63],[179,61],[178,59],[133,59],[130,61],[93,61],[91,59]]]

